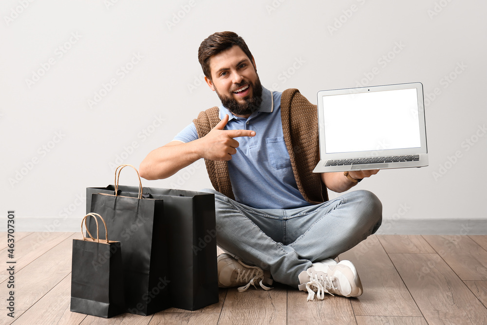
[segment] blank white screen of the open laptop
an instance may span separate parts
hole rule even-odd
[[[421,147],[416,88],[322,100],[326,153]]]

